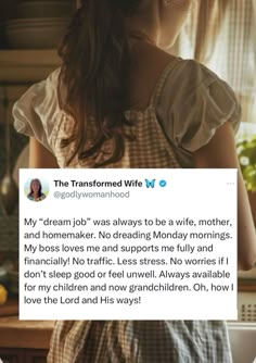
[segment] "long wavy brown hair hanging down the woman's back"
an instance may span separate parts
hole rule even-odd
[[[124,125],[131,125],[124,116],[129,107],[128,77],[131,50],[125,18],[131,16],[141,0],[84,0],[59,48],[63,66],[59,78],[66,89],[61,107],[71,113],[76,126],[73,135],[63,139],[65,148],[75,142],[68,163],[97,157],[106,140],[113,141],[113,152],[103,166],[121,159],[126,135]],[[97,135],[87,147],[88,120],[93,116]]]

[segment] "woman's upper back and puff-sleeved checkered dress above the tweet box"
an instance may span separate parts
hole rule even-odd
[[[113,140],[105,140],[97,158],[76,154],[69,162],[75,140],[65,148],[62,140],[72,136],[75,120],[60,107],[59,76],[56,70],[22,97],[14,107],[14,125],[35,136],[60,167],[94,167],[108,158]],[[241,116],[233,91],[213,72],[140,40],[133,40],[128,103],[124,115],[133,124],[124,128],[130,139],[125,139],[124,157],[105,167],[193,167],[192,153],[226,121],[236,132]],[[93,117],[89,121],[87,147],[92,147],[98,127]]]

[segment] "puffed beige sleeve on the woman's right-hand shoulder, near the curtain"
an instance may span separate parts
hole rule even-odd
[[[193,60],[179,62],[169,74],[157,110],[174,146],[189,152],[206,145],[227,121],[236,133],[241,118],[231,87]]]

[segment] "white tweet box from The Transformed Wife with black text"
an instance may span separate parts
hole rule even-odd
[[[21,320],[235,320],[236,170],[21,170]]]

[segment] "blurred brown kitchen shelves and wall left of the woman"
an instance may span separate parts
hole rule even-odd
[[[60,64],[56,46],[76,10],[74,0],[0,0],[0,283],[17,271],[18,167],[27,165],[28,142],[12,126],[12,107],[35,82]],[[17,292],[17,274],[9,289]]]

